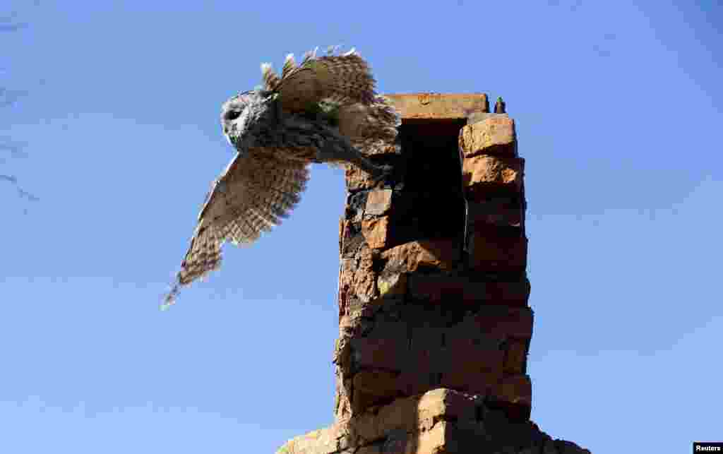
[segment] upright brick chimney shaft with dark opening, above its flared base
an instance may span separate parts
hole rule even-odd
[[[396,173],[372,188],[348,172],[338,419],[437,387],[529,416],[524,160],[512,119],[482,118],[484,95],[458,98],[392,97],[399,141],[375,158]]]

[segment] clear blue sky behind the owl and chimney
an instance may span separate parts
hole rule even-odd
[[[596,454],[723,440],[722,7],[181,3],[2,4],[0,142],[25,157],[0,174],[40,200],[0,179],[0,452],[273,453],[332,421],[341,171],[158,304],[232,157],[223,100],[340,43],[383,93],[507,101],[534,421]]]

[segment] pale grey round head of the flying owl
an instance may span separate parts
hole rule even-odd
[[[221,106],[223,135],[239,153],[248,150],[259,127],[274,116],[274,99],[268,91],[251,90],[228,98]]]

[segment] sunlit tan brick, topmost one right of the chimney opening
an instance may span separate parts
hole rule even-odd
[[[490,115],[459,132],[459,149],[465,158],[476,155],[517,155],[515,121],[506,115]]]

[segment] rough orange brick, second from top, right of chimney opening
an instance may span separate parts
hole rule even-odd
[[[464,158],[462,186],[468,200],[486,198],[490,192],[517,194],[521,191],[523,158],[496,158],[489,155]]]

